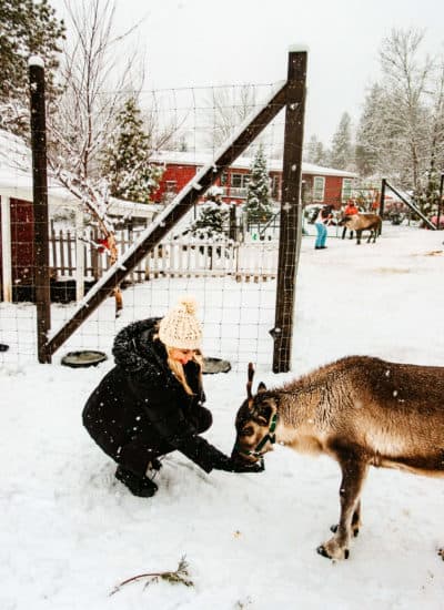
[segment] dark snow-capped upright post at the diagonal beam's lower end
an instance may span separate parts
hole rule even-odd
[[[34,211],[36,244],[36,305],[37,305],[37,348],[40,363],[50,363],[47,349],[48,331],[51,328],[51,301],[49,278],[48,236],[48,181],[47,181],[47,134],[44,114],[44,64],[38,57],[31,57],[29,87],[31,102],[32,143],[32,197]]]

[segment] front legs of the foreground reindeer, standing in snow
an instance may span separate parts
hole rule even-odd
[[[369,465],[356,454],[337,456],[342,469],[340,488],[341,517],[333,538],[317,547],[317,552],[330,559],[347,559],[351,535],[357,536],[361,518],[360,495]]]

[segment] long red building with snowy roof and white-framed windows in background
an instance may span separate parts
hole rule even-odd
[[[165,151],[153,159],[164,166],[159,190],[153,195],[155,203],[164,203],[176,195],[204,165],[212,162],[211,155]],[[243,203],[248,193],[250,167],[253,160],[240,156],[220,179],[219,186],[225,203]],[[275,203],[281,203],[282,160],[268,160],[271,195]],[[343,170],[321,167],[302,163],[302,201],[310,203],[329,203],[340,207],[350,199],[356,174]]]

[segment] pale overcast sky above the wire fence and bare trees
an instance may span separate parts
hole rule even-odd
[[[75,1],[75,0],[74,0]],[[53,0],[59,8],[61,0]],[[343,112],[360,114],[393,28],[426,30],[444,53],[443,0],[115,0],[117,23],[143,20],[145,87],[272,83],[285,79],[291,45],[309,48],[305,140],[324,144]]]

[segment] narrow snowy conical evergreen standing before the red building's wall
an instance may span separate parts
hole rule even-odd
[[[269,171],[262,145],[259,146],[251,166],[245,212],[249,223],[264,223],[273,214]]]

